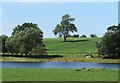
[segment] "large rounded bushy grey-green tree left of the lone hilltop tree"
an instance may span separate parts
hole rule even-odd
[[[6,41],[6,46],[12,53],[19,52],[27,55],[33,48],[44,46],[42,37],[43,32],[37,24],[24,23],[13,29],[12,36]]]

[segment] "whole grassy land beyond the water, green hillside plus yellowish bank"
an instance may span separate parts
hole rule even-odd
[[[3,61],[19,61],[19,62],[107,62],[119,63],[119,59],[102,59],[97,54],[96,41],[100,38],[67,38],[67,42],[63,42],[63,38],[44,38],[43,42],[46,46],[47,58],[19,58],[19,57],[3,57]],[[94,58],[85,58],[85,55],[91,53]],[[0,58],[0,60],[2,60]]]

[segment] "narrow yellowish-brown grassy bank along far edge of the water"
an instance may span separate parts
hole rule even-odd
[[[97,62],[97,63],[119,63],[120,59],[100,59],[100,58],[82,58],[82,57],[61,57],[61,58],[16,58],[3,57],[1,61],[5,62]]]

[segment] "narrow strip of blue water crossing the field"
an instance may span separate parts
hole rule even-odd
[[[118,69],[118,65],[113,63],[93,63],[93,62],[0,62],[2,68],[108,68]],[[1,66],[0,66],[1,67]]]

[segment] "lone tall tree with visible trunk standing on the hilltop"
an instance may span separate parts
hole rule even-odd
[[[55,35],[63,36],[64,42],[66,42],[67,36],[70,32],[77,32],[77,28],[73,23],[75,19],[72,18],[69,14],[65,14],[62,16],[62,21],[56,25],[55,29],[53,30]]]

